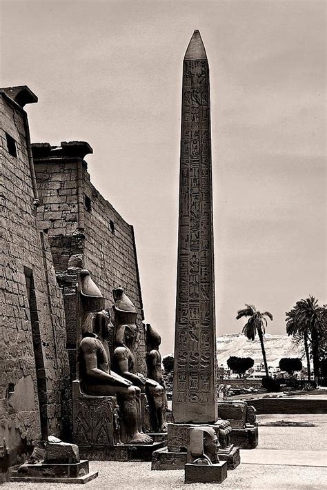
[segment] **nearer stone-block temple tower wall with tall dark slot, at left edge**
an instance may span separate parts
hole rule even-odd
[[[26,87],[0,94],[0,467],[6,472],[40,438],[61,436],[69,369],[63,297],[48,236],[35,218],[38,196],[23,105],[37,97]]]

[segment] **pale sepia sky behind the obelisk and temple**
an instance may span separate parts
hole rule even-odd
[[[210,64],[217,335],[253,303],[326,303],[326,3],[1,0],[1,86],[32,141],[88,141],[92,183],[135,226],[146,321],[173,350],[181,70]]]

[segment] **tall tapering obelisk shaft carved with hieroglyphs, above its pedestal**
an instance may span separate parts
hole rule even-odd
[[[183,63],[177,304],[172,415],[215,423],[215,277],[209,65],[195,30]]]

